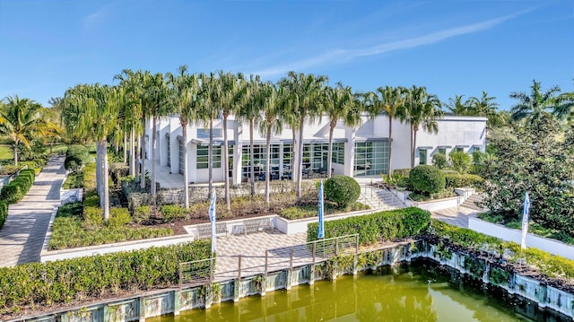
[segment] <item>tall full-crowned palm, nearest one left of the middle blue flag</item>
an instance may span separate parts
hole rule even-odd
[[[314,74],[297,74],[289,72],[287,77],[279,81],[280,86],[285,87],[292,112],[299,117],[299,144],[298,144],[298,167],[297,167],[297,198],[301,196],[301,180],[303,168],[303,127],[309,117],[309,122],[320,112],[321,95],[328,78]]]

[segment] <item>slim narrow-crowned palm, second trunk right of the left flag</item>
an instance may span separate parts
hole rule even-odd
[[[261,78],[258,75],[250,75],[246,86],[245,104],[239,107],[238,113],[241,119],[248,121],[249,126],[249,177],[251,183],[251,196],[255,196],[255,153],[253,146],[253,130],[261,117]]]

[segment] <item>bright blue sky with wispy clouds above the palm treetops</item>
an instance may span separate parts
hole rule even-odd
[[[0,0],[0,98],[48,106],[125,68],[276,81],[325,74],[355,91],[426,86],[442,101],[574,91],[574,1]]]

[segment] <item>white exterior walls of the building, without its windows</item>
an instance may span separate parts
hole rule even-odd
[[[150,120],[151,121],[151,120]],[[421,156],[424,155],[421,151],[426,151],[426,163],[431,164],[432,156],[438,152],[449,152],[462,149],[464,152],[473,152],[480,150],[484,152],[486,144],[486,117],[457,117],[446,116],[440,118],[438,121],[439,131],[429,133],[424,129],[419,128],[417,131],[416,149],[414,164],[418,165],[421,162]],[[145,126],[146,135],[149,140],[146,143],[148,149],[147,159],[151,160],[152,153],[152,130],[148,122]],[[214,120],[213,128],[215,129],[213,135],[213,144],[222,147],[222,120]],[[156,162],[161,166],[167,166],[167,152],[166,144],[170,144],[170,170],[172,173],[178,173],[178,139],[181,139],[182,131],[179,124],[178,116],[164,117],[158,121],[156,126],[158,131],[158,142],[156,143]],[[189,182],[204,183],[209,179],[208,169],[197,169],[197,146],[206,146],[209,144],[209,133],[204,131],[203,124],[192,124],[187,126],[187,168]],[[392,169],[404,169],[411,167],[411,128],[408,124],[403,124],[398,120],[393,120],[392,139],[388,138],[388,118],[381,115],[375,118],[367,116],[362,117],[361,125],[355,127],[344,126],[343,122],[339,122],[334,130],[334,143],[344,143],[344,164],[333,163],[332,168],[335,174],[344,174],[353,176],[355,174],[353,166],[355,164],[355,150],[357,143],[365,142],[383,142],[385,145],[392,144]],[[298,135],[297,131],[297,135]],[[242,173],[242,158],[243,147],[249,145],[249,127],[245,122],[239,122],[233,117],[228,120],[228,142],[231,152],[230,168],[231,182],[238,184],[241,180],[245,180]],[[170,140],[166,138],[170,135]],[[314,123],[307,123],[304,126],[303,144],[326,144],[329,138],[329,121],[327,117],[319,117]],[[289,126],[283,126],[283,132],[280,134],[272,135],[272,144],[279,144],[281,156],[279,158],[280,170],[286,168],[283,164],[283,145],[291,144],[292,132]],[[261,135],[258,131],[258,126],[254,128],[254,144],[265,145],[265,135]],[[299,138],[296,139],[296,144],[293,146],[293,158],[295,164],[297,162]],[[309,145],[309,148],[311,145]],[[223,147],[222,147],[223,148]],[[317,148],[318,149],[318,148]],[[311,151],[310,153],[313,153]],[[383,155],[383,154],[377,154]],[[223,158],[223,152],[222,152]],[[312,158],[312,157],[311,157]],[[378,161],[381,162],[381,161]],[[387,161],[384,161],[385,163]],[[318,164],[318,163],[316,163]],[[379,164],[380,165],[380,164]],[[386,167],[385,167],[386,168]],[[385,169],[386,171],[386,169]],[[221,167],[213,168],[213,181],[221,182],[224,180],[225,174],[223,173],[223,161]],[[357,171],[361,173],[362,171]],[[373,172],[373,171],[370,171]],[[297,173],[296,171],[293,173]],[[365,172],[367,173],[367,172]],[[370,175],[376,175],[370,173]],[[295,178],[296,176],[293,176]]]

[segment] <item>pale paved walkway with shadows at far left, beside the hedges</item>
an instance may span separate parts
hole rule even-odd
[[[0,229],[0,267],[39,262],[60,187],[65,180],[64,156],[54,156],[36,177],[30,191],[10,205],[8,219]]]

